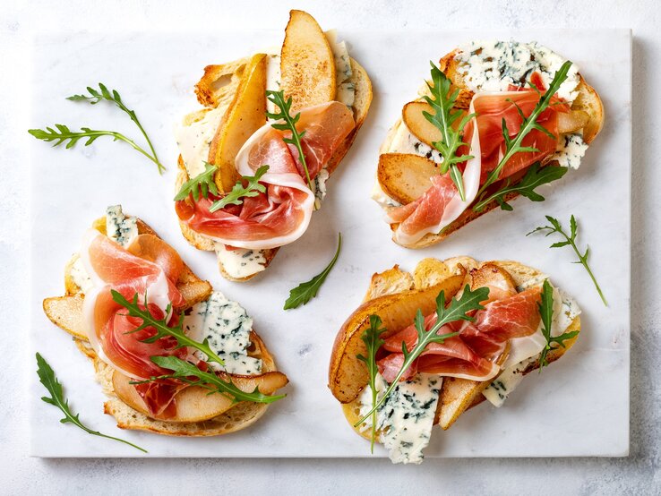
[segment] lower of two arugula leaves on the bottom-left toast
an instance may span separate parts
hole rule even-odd
[[[209,394],[219,393],[225,395],[232,400],[232,403],[239,401],[252,401],[253,403],[273,403],[279,399],[285,398],[287,395],[265,395],[260,392],[259,388],[255,387],[252,392],[245,392],[239,389],[234,382],[227,376],[227,381],[215,372],[204,372],[197,368],[193,363],[186,362],[176,356],[152,356],[151,361],[164,369],[170,370],[173,373],[167,375],[159,375],[150,377],[146,381],[132,381],[131,384],[144,384],[151,381],[159,381],[163,379],[176,379],[183,381],[191,386],[200,386],[201,388],[208,389]],[[197,380],[192,381],[190,378],[194,377]]]

